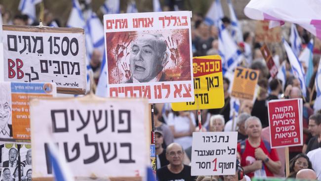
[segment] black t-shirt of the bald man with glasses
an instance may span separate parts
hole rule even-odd
[[[173,174],[164,166],[157,170],[156,175],[158,181],[195,181],[195,177],[191,176],[191,167],[187,165],[178,174]]]

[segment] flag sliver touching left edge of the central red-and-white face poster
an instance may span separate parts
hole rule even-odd
[[[108,97],[107,95],[107,63],[105,53],[103,54],[103,61],[101,63],[100,76],[96,88],[96,95],[100,97]]]

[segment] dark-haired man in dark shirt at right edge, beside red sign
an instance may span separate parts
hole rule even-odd
[[[316,113],[309,118],[309,131],[312,134],[306,153],[321,147],[321,114]]]

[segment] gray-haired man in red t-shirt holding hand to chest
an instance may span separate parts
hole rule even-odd
[[[261,139],[262,124],[259,118],[251,116],[244,123],[247,139],[238,143],[241,166],[244,174],[253,177],[274,177],[281,169],[281,162],[270,143]]]

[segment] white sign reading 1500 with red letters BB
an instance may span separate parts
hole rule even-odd
[[[3,25],[3,65],[4,81],[53,82],[58,93],[84,94],[84,31]]]

